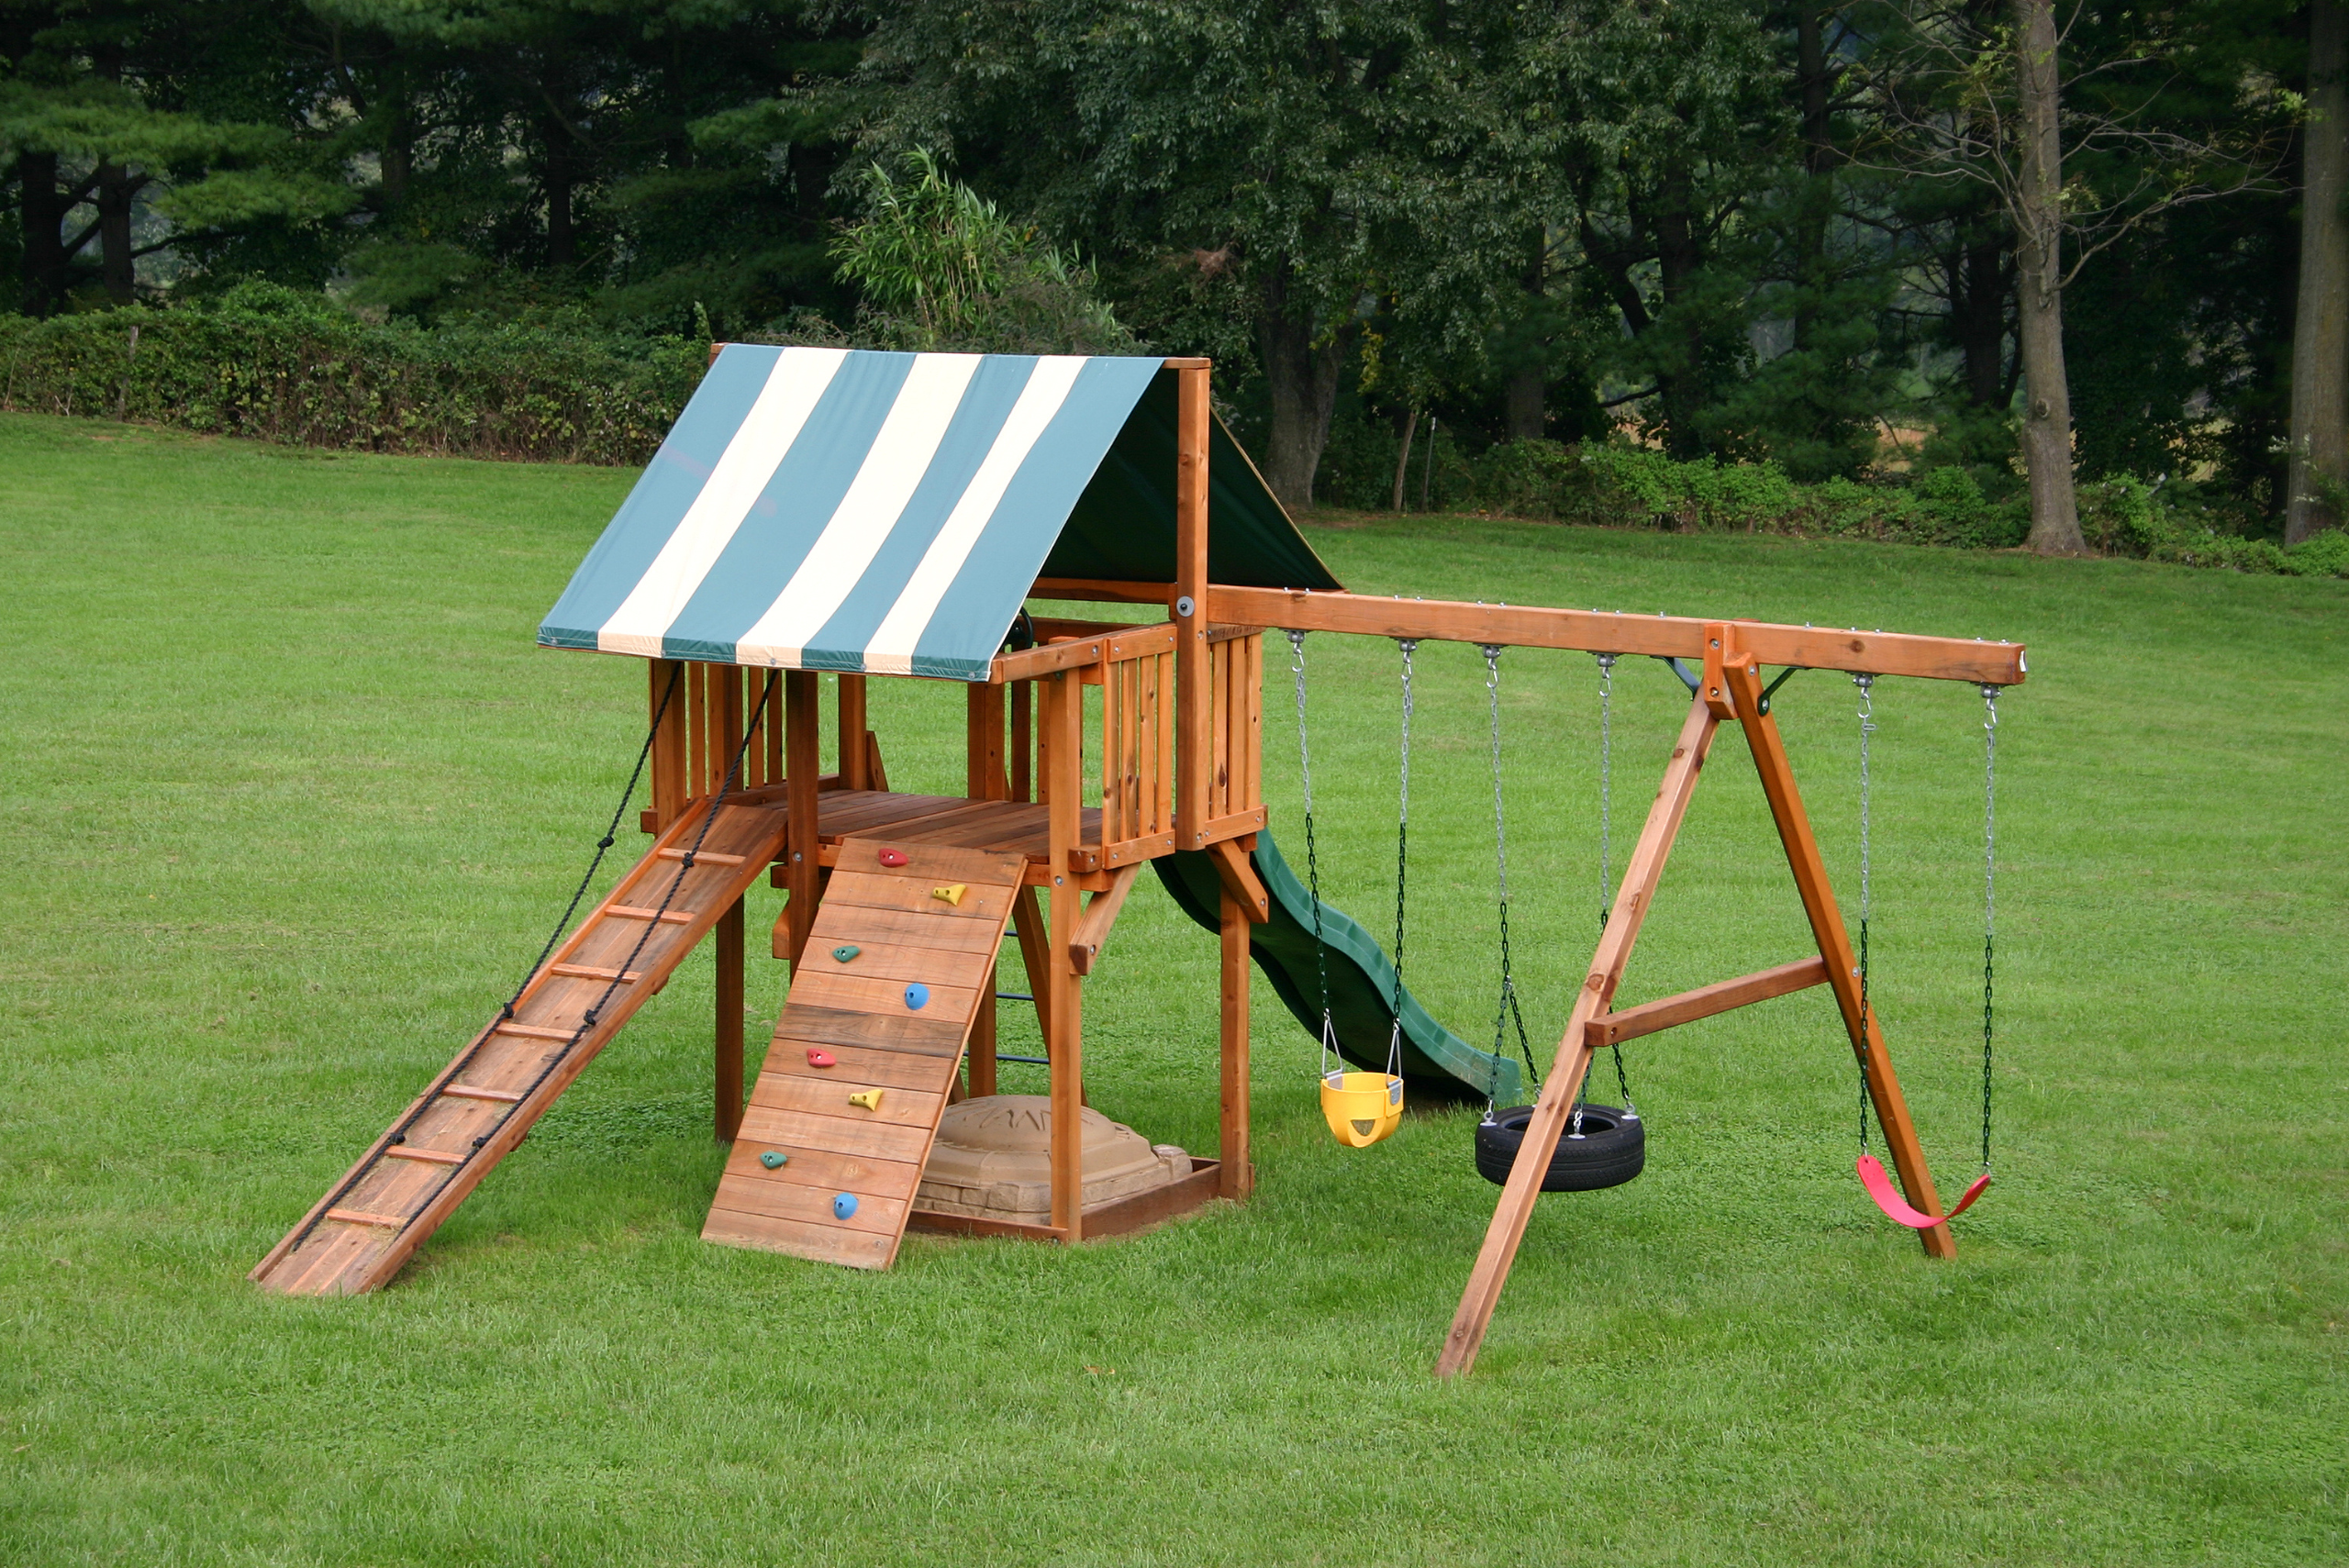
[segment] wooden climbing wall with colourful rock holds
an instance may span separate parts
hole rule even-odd
[[[881,866],[883,847],[907,864]],[[897,1258],[1024,869],[1001,850],[841,845],[702,1239],[850,1268]],[[935,897],[956,883],[961,904]],[[921,1009],[907,1007],[911,984],[930,991]],[[813,1066],[810,1049],[836,1066]],[[874,1089],[876,1108],[848,1099]],[[768,1169],[763,1155],[785,1162]],[[857,1199],[846,1218],[843,1192]]]

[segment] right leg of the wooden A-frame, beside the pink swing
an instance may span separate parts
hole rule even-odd
[[[1891,1145],[1893,1171],[1900,1174],[1900,1190],[1919,1214],[1940,1214],[1940,1195],[1933,1192],[1933,1174],[1924,1162],[1924,1145],[1917,1141],[1917,1124],[1910,1122],[1907,1099],[1900,1094],[1900,1077],[1893,1059],[1884,1049],[1884,1030],[1877,1028],[1875,1007],[1860,1009],[1860,960],[1851,951],[1851,934],[1844,930],[1844,913],[1835,904],[1828,885],[1828,864],[1818,854],[1811,836],[1811,817],[1802,810],[1802,791],[1795,786],[1795,765],[1785,756],[1778,721],[1762,711],[1762,669],[1752,655],[1734,655],[1724,667],[1724,678],[1736,695],[1738,723],[1752,746],[1755,768],[1762,772],[1762,793],[1769,796],[1769,812],[1778,824],[1778,840],[1785,845],[1788,866],[1795,871],[1795,890],[1802,894],[1802,913],[1811,918],[1811,934],[1818,939],[1818,955],[1828,960],[1828,986],[1835,988],[1835,1005],[1844,1014],[1844,1030],[1851,1049],[1867,1061],[1867,1096],[1875,1101],[1877,1124]],[[1957,1242],[1947,1225],[1919,1230],[1926,1256],[1954,1258]]]

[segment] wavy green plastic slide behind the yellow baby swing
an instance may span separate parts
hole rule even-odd
[[[1250,854],[1264,892],[1271,894],[1271,920],[1247,932],[1247,948],[1264,979],[1306,1030],[1320,1038],[1320,972],[1313,955],[1313,894],[1280,857],[1271,833],[1257,833]],[[1221,925],[1221,883],[1214,861],[1200,850],[1153,859],[1151,869],[1174,904],[1210,932]],[[1395,965],[1379,939],[1348,913],[1320,906],[1322,946],[1330,951],[1330,1023],[1337,1047],[1358,1068],[1386,1068],[1386,1042],[1395,1026]],[[1517,1063],[1480,1052],[1428,1016],[1428,1009],[1402,993],[1402,1080],[1412,1094],[1452,1101],[1515,1106],[1522,1089]]]

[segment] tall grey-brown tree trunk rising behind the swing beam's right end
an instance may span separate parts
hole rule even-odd
[[[2058,131],[2055,0],[2015,2],[2015,87],[2022,157],[2015,190],[2015,282],[2022,296],[2022,462],[2032,481],[2030,547],[2086,552],[2072,491],[2072,387],[2062,366],[2062,138]]]

